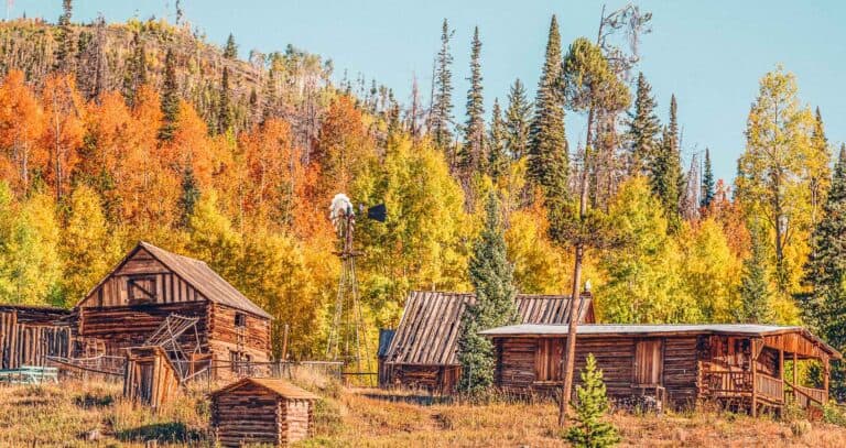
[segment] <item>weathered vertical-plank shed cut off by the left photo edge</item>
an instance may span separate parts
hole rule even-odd
[[[47,306],[0,305],[0,370],[45,365],[46,357],[67,357],[70,310]]]

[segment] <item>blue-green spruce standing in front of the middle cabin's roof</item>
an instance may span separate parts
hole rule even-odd
[[[476,303],[464,312],[458,337],[458,361],[462,363],[458,389],[468,394],[484,392],[494,383],[494,345],[479,331],[517,323],[514,269],[506,256],[496,193],[488,196],[485,210],[485,228],[474,244],[469,263]]]

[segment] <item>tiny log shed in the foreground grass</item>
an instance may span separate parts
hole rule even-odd
[[[212,427],[225,447],[290,444],[313,433],[317,398],[284,380],[245,378],[212,393]]]

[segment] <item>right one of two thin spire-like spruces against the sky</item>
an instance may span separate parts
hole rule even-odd
[[[470,46],[470,88],[467,90],[467,121],[464,127],[464,144],[458,152],[458,168],[468,178],[481,168],[485,160],[485,105],[481,96],[481,41],[479,28],[473,32]]]

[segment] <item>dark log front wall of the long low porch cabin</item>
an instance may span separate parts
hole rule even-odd
[[[608,396],[626,398],[636,393],[636,347],[639,338],[579,338],[576,343],[576,370],[584,369],[593,353],[603,370]],[[696,337],[659,338],[663,362],[661,384],[674,406],[684,406],[696,397]],[[563,347],[566,338],[497,338],[497,384],[519,394],[553,394],[563,380]],[[575,376],[576,383],[581,380]]]

